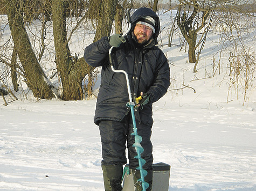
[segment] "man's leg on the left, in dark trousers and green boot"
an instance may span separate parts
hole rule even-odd
[[[106,191],[121,191],[123,165],[126,159],[126,123],[117,121],[101,121],[99,124],[102,158],[101,167]]]

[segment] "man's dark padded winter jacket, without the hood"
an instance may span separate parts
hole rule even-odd
[[[129,77],[133,97],[148,93],[150,102],[143,109],[135,109],[136,122],[152,126],[152,104],[160,99],[170,85],[170,68],[162,50],[155,46],[152,38],[147,45],[139,47],[136,40],[126,37],[126,42],[113,48],[113,66],[124,70]],[[123,73],[113,72],[109,65],[108,37],[103,37],[85,48],[84,58],[93,67],[102,67],[101,85],[98,94],[94,122],[100,120],[121,121],[129,109],[126,77]]]

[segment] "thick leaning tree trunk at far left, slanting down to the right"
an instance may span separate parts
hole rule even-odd
[[[5,0],[12,40],[15,44],[20,63],[25,71],[27,86],[34,97],[52,99],[54,97],[50,86],[45,82],[44,71],[41,69],[27,36],[23,18],[20,15],[19,0]]]

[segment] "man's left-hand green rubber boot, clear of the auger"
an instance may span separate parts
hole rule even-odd
[[[101,165],[105,191],[121,191],[123,165]]]

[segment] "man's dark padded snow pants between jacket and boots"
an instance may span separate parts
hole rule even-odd
[[[137,133],[142,137],[140,143],[144,151],[141,158],[146,160],[144,170],[151,170],[153,164],[153,146],[150,141],[152,126],[136,124]],[[132,115],[129,113],[122,121],[102,120],[99,123],[101,144],[102,144],[102,165],[124,165],[127,163],[126,145],[128,149],[129,168],[139,167],[137,155],[133,146],[135,137],[133,133]]]

